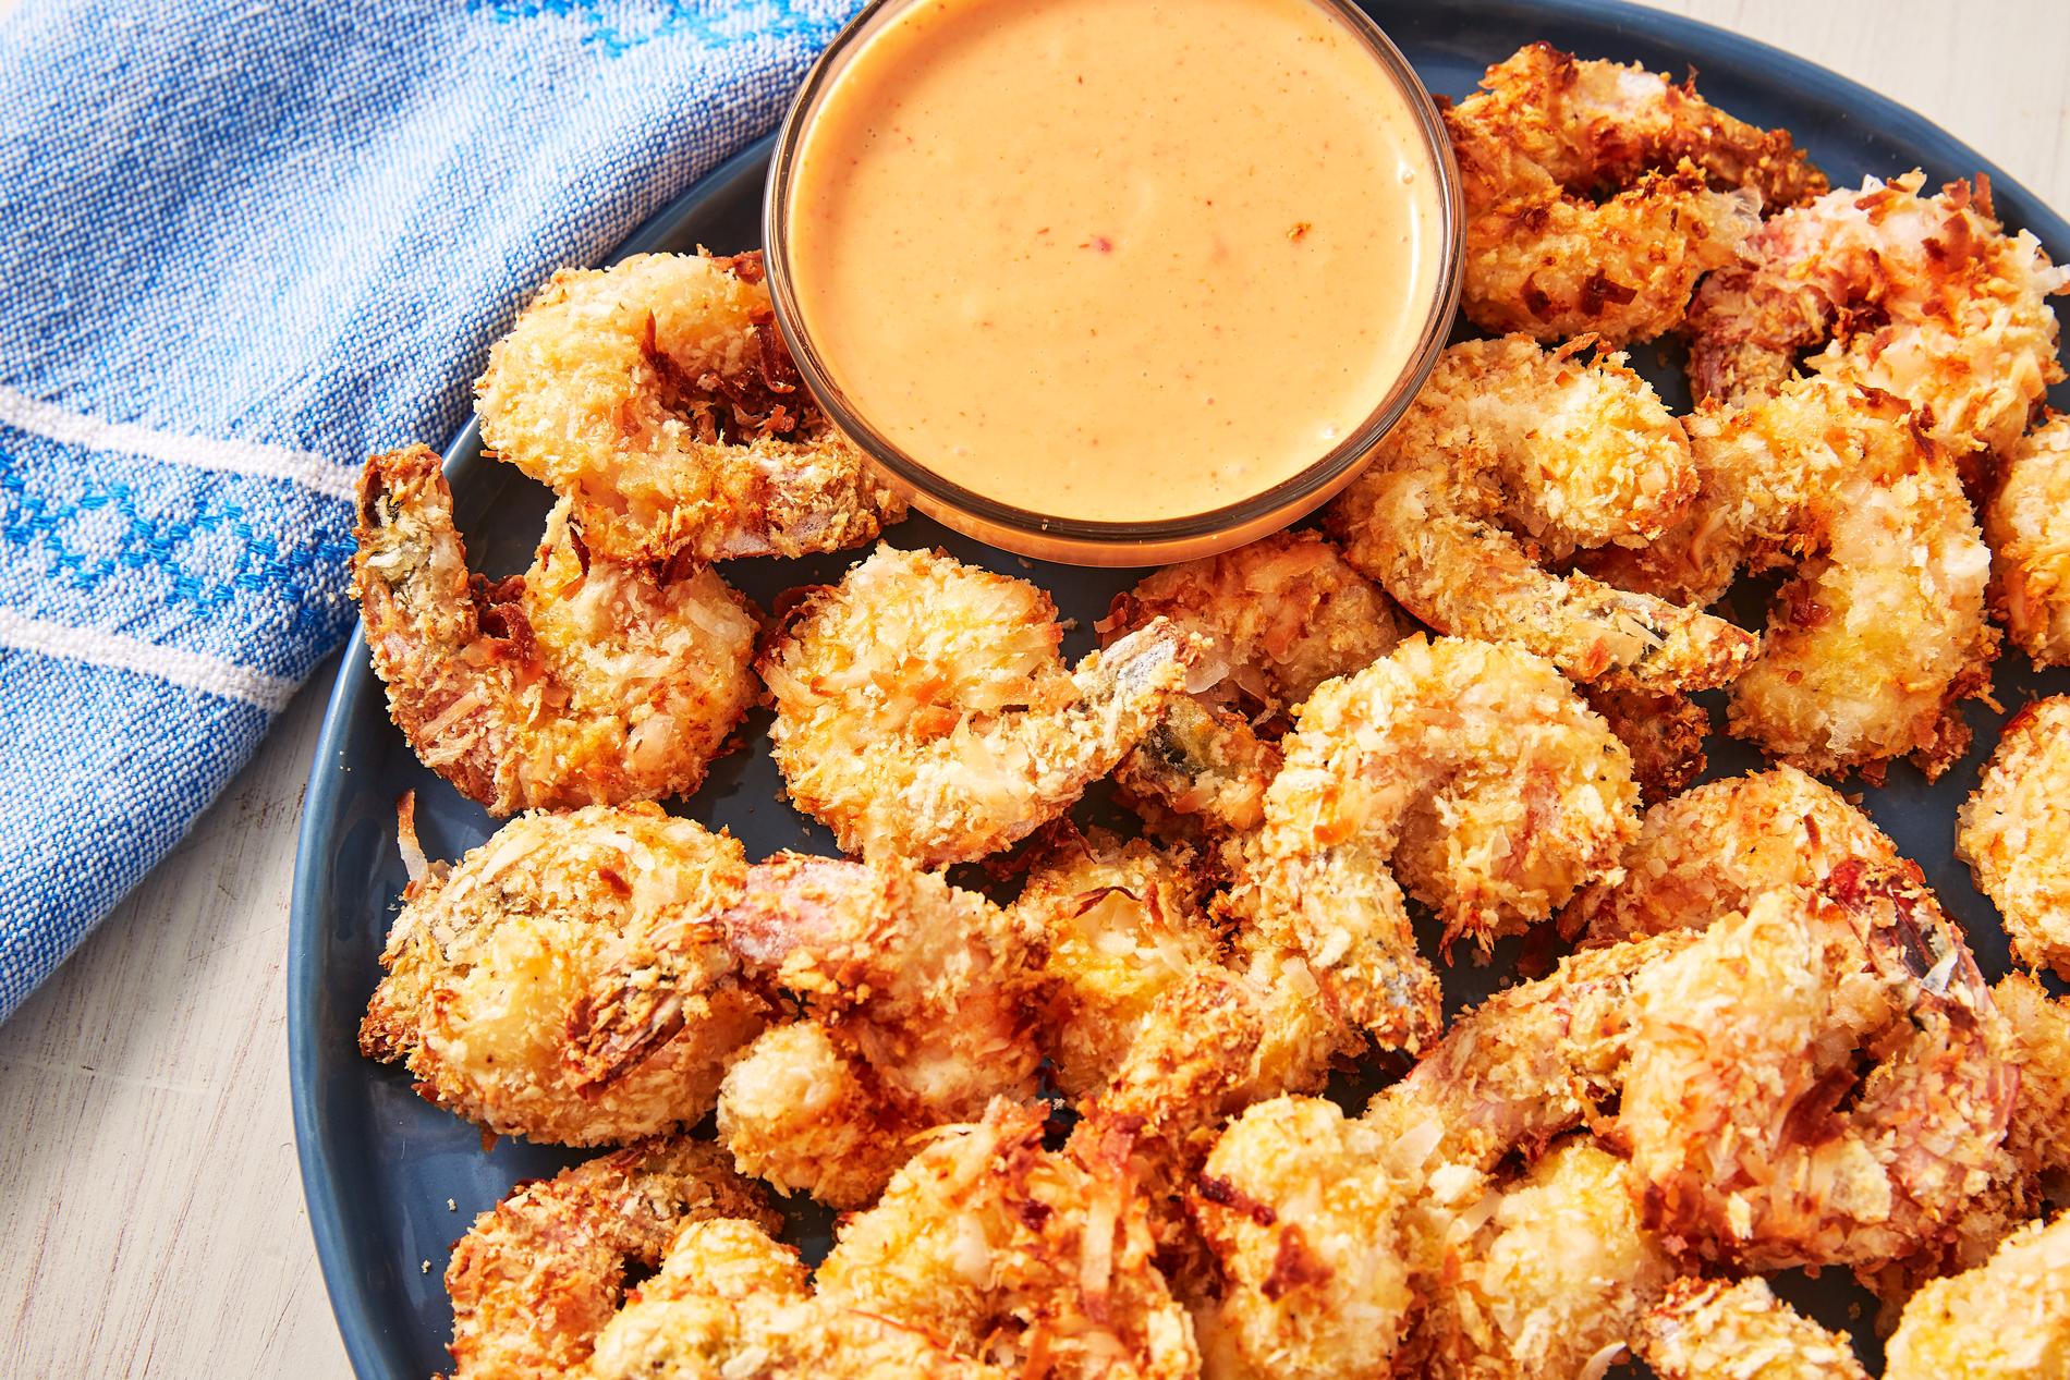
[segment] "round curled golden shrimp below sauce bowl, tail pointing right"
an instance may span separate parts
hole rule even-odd
[[[762,656],[791,801],[861,857],[996,852],[1114,770],[1201,641],[1153,621],[1072,674],[1049,596],[942,552],[892,550],[818,588]]]

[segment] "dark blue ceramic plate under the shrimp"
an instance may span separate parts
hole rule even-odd
[[[1488,64],[1538,39],[1577,56],[1637,60],[1673,74],[1693,66],[1706,99],[1755,124],[1793,130],[1834,186],[1859,184],[1869,174],[1890,178],[1911,168],[1925,168],[1929,186],[1985,172],[2008,228],[2033,230],[2053,261],[2070,259],[2070,228],[1975,151],[1851,81],[1724,29],[1586,0],[1370,0],[1366,8],[1424,83],[1455,99],[1474,89]],[[654,217],[621,252],[689,250],[700,244],[714,252],[753,248],[760,244],[766,159],[768,143],[735,157]],[[1644,348],[1635,352],[1642,366],[1652,354]],[[472,374],[480,360],[455,360],[453,368]],[[1679,374],[1648,372],[1654,372],[1673,408],[1687,408]],[[2070,410],[2062,389],[2053,403]],[[453,441],[445,463],[474,567],[491,577],[524,569],[538,542],[546,490],[484,459],[472,426]],[[894,528],[892,542],[946,546],[963,561],[1041,583],[1062,617],[1078,621],[1078,631],[1064,643],[1072,660],[1091,648],[1091,625],[1105,614],[1110,598],[1141,577],[1141,571],[1027,563],[923,517]],[[778,590],[838,579],[851,561],[853,554],[735,561],[724,575],[768,608]],[[2070,691],[2070,672],[2035,674],[2012,652],[2000,662],[1998,687],[2000,701],[2016,708],[2035,695]],[[1969,925],[1979,962],[1995,979],[2006,970],[2004,933],[1989,902],[1971,888],[1969,869],[1954,861],[1952,840],[1956,805],[1975,788],[2002,716],[1973,701],[1969,718],[1977,749],[1938,784],[1929,786],[1913,768],[1898,766],[1888,786],[1867,790],[1865,803],[1898,846],[1925,867],[1948,908]],[[679,813],[731,828],[751,859],[778,848],[834,852],[824,828],[778,803],[766,724],[766,714],[749,722],[747,751],[720,759],[704,790],[677,805]],[[1710,749],[1712,774],[1757,766],[1755,757],[1722,737],[1714,737]],[[395,852],[395,797],[412,788],[418,792],[418,834],[431,857],[457,859],[489,838],[489,815],[424,770],[389,724],[366,646],[354,635],[323,724],[302,817],[290,929],[288,1057],[308,1221],[337,1328],[364,1380],[422,1380],[449,1366],[451,1308],[441,1277],[451,1243],[518,1179],[553,1175],[582,1159],[580,1152],[511,1140],[484,1152],[480,1134],[420,1101],[404,1070],[358,1053],[358,1022],[379,981],[377,956],[404,888]],[[1087,809],[1105,813],[1097,801]],[[1435,935],[1426,943],[1435,943]],[[1509,962],[1513,950],[1499,950],[1492,968],[1470,962],[1447,968],[1449,1003],[1484,995]],[[809,1248],[811,1237],[824,1231],[824,1219],[797,1223],[793,1231]],[[1817,1283],[1784,1279],[1778,1287],[1830,1326],[1869,1332],[1873,1299],[1853,1291],[1840,1272],[1828,1272]],[[1849,1318],[1851,1303],[1863,1306],[1857,1318]],[[1873,1374],[1882,1357],[1873,1355],[1873,1341],[1865,1343],[1865,1351],[1871,1351]]]

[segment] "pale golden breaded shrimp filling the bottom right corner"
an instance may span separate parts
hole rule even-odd
[[[1884,1355],[1884,1380],[2070,1372],[2070,1214],[2029,1223],[1987,1264],[1915,1293]]]

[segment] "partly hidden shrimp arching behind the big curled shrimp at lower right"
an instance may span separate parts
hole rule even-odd
[[[1569,939],[1606,946],[1704,929],[1778,886],[1820,886],[1838,863],[1896,863],[1898,848],[1832,786],[1780,766],[1706,782],[1646,811],[1619,859],[1561,912]]]

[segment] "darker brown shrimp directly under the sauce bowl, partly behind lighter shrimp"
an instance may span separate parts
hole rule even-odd
[[[1323,681],[1391,652],[1406,631],[1393,600],[1329,540],[1292,530],[1170,565],[1116,594],[1099,641],[1114,646],[1151,619],[1205,637],[1209,650],[1186,683],[1194,703],[1174,703],[1116,780],[1153,828],[1180,834],[1167,815],[1209,834],[1256,828],[1288,712]]]

